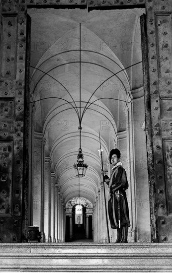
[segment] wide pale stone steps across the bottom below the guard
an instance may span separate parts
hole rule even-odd
[[[172,272],[172,244],[0,244],[0,273]]]

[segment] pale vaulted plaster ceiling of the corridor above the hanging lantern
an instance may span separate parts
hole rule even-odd
[[[107,160],[115,136],[126,129],[127,96],[143,85],[142,64],[124,69],[142,59],[139,16],[143,12],[29,10],[34,130],[45,135],[45,155],[52,159],[65,203],[78,195],[73,164],[80,145],[80,87],[81,145],[88,164],[86,176],[80,178],[80,196],[93,204],[101,178],[98,131]]]

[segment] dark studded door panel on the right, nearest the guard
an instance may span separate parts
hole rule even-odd
[[[171,242],[172,1],[146,1],[146,28],[147,48],[143,46],[143,51],[148,51],[144,80],[149,81],[145,102],[148,162],[153,162],[149,166],[152,239]]]

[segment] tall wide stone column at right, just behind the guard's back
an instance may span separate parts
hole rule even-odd
[[[134,167],[136,176],[134,198],[137,211],[137,237],[142,242],[150,241],[151,238],[146,133],[144,127],[142,127],[145,121],[143,87],[131,90],[131,94],[133,96]]]

